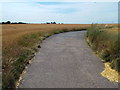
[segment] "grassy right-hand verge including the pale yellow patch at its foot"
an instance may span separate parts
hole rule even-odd
[[[102,75],[111,81],[119,82],[120,33],[118,27],[105,27],[93,24],[88,29],[87,42],[105,62],[105,70],[102,72]]]

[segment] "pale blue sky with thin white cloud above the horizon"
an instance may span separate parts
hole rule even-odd
[[[41,2],[42,1],[42,2]],[[2,2],[2,21],[68,24],[117,23],[117,2]]]

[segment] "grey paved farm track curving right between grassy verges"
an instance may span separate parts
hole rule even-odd
[[[44,40],[19,88],[117,88],[117,83],[101,76],[104,64],[86,44],[85,32]]]

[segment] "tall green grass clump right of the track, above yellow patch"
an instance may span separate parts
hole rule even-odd
[[[120,35],[110,32],[114,27],[101,27],[91,25],[86,37],[88,44],[103,59],[103,62],[110,62],[111,68],[120,72]],[[108,30],[106,30],[108,29]]]

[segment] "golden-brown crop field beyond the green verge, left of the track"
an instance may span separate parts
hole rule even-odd
[[[2,37],[3,37],[3,48],[7,47],[9,44],[16,42],[16,40],[27,33],[35,32],[49,32],[60,29],[80,29],[90,26],[89,24],[11,24],[11,25],[2,25]]]

